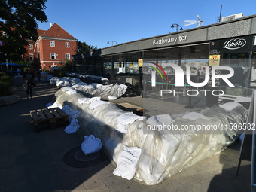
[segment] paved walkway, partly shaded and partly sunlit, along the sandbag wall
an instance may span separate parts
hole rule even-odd
[[[242,160],[235,176],[239,143],[154,186],[113,175],[109,162],[83,169],[66,165],[63,155],[81,145],[81,136],[67,135],[64,127],[35,133],[29,114],[45,108],[56,90],[44,81],[34,99],[26,99],[17,87],[18,102],[0,107],[0,191],[250,191],[251,162]]]

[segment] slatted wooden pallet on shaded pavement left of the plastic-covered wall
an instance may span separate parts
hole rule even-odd
[[[69,116],[60,108],[44,108],[30,111],[35,131],[52,129],[69,124]]]

